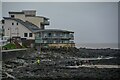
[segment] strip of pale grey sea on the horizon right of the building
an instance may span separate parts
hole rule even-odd
[[[111,48],[111,49],[120,49],[117,43],[76,43],[77,48],[93,48],[93,49],[100,49],[100,48]]]

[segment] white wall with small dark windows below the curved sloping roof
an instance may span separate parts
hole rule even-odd
[[[14,25],[12,25],[12,23],[14,23]],[[17,36],[18,33],[18,36],[20,36],[21,38],[35,39],[34,34],[32,37],[29,37],[29,33],[32,33],[29,29],[27,29],[20,23],[18,23],[17,25],[17,22],[14,20],[5,20],[4,29],[5,36],[10,36],[10,33],[11,37]],[[28,37],[24,37],[24,33],[28,33]]]

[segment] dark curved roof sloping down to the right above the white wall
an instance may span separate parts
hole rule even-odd
[[[21,23],[22,25],[24,25],[27,29],[29,29],[30,31],[32,31],[33,33],[35,33],[36,31],[40,30],[40,28],[38,28],[36,25],[32,24],[31,22],[24,22],[21,19],[16,19],[16,18],[11,18],[11,17],[3,17],[4,19],[10,19],[10,20],[15,20],[18,23]]]

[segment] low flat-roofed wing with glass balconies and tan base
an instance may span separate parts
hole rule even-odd
[[[35,43],[44,47],[75,47],[74,32],[59,29],[44,29],[36,32]]]

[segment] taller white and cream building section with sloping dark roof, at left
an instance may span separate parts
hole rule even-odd
[[[49,25],[49,19],[36,16],[35,10],[23,10],[22,12],[9,12],[9,17],[3,17],[4,35],[20,37],[29,41],[35,40],[35,32]]]

